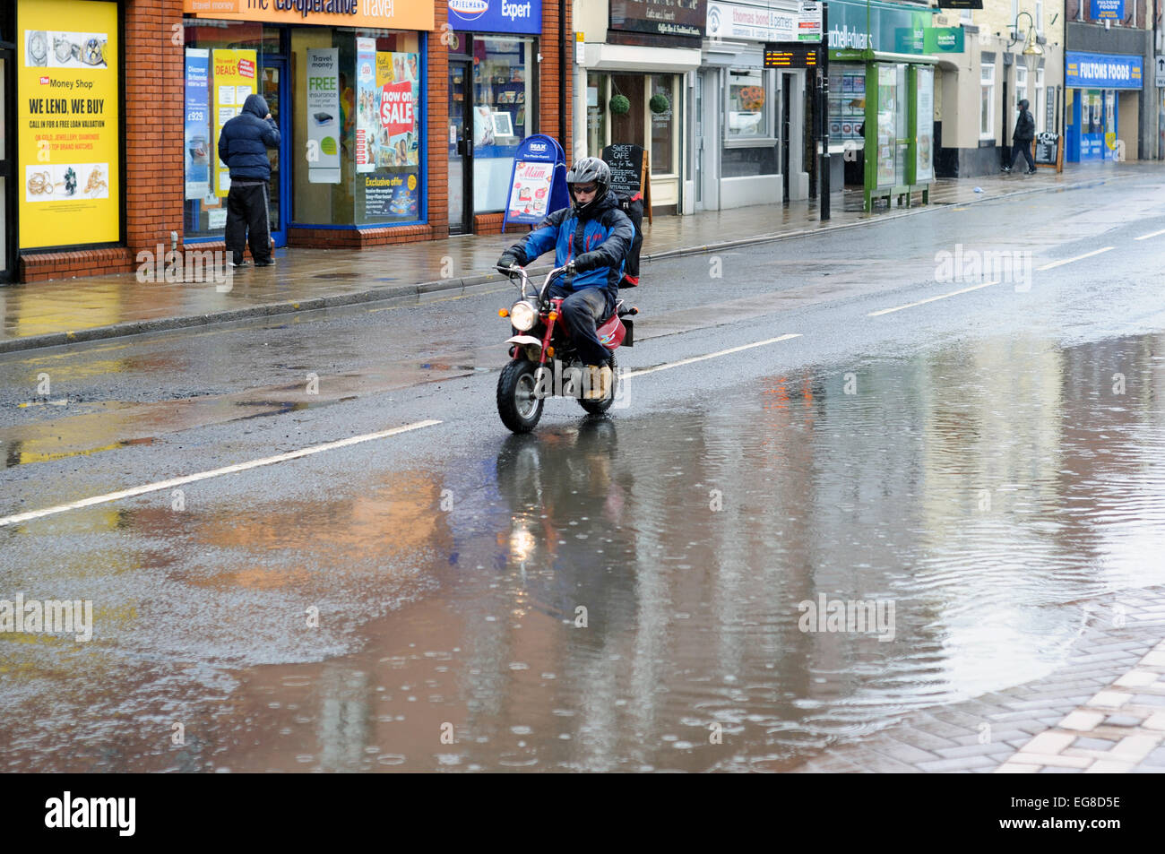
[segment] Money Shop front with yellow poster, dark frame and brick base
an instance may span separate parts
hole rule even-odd
[[[17,253],[127,263],[118,2],[19,0],[0,24],[5,281],[20,275]]]

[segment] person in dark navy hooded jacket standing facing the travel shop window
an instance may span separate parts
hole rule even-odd
[[[248,244],[255,267],[275,263],[268,221],[270,200],[267,184],[271,179],[271,164],[267,160],[267,149],[278,148],[278,144],[280,128],[261,94],[247,96],[242,112],[227,121],[219,134],[219,160],[231,170],[231,190],[226,197],[226,248],[235,267],[246,266],[242,250]]]

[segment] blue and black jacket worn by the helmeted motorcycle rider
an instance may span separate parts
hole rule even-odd
[[[563,281],[563,287],[576,291],[602,288],[607,308],[612,310],[623,277],[623,262],[634,239],[635,226],[619,209],[615,193],[608,190],[594,204],[593,212],[580,216],[574,205],[555,211],[509,252],[524,267],[553,248],[555,267],[574,262],[574,277]]]

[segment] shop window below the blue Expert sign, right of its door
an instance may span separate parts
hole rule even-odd
[[[473,40],[473,210],[501,211],[517,147],[531,129],[534,40]]]

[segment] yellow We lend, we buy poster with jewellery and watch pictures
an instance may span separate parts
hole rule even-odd
[[[118,5],[20,0],[16,24],[20,245],[115,242]]]

